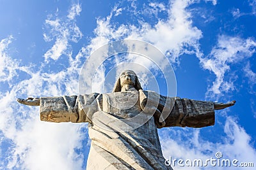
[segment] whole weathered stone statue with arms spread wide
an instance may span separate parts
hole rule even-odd
[[[92,143],[86,169],[172,169],[164,164],[157,128],[214,125],[214,110],[236,103],[195,101],[145,91],[131,70],[120,74],[112,93],[17,101],[40,106],[42,121],[88,122]],[[163,112],[167,117],[161,116]]]

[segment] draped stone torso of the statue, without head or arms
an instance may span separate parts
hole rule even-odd
[[[88,168],[99,166],[92,160],[99,157],[101,162],[106,160],[106,166],[120,165],[117,169],[165,169],[154,117],[143,112],[140,92],[102,94],[98,100],[99,111],[93,114],[89,126],[92,145]]]

